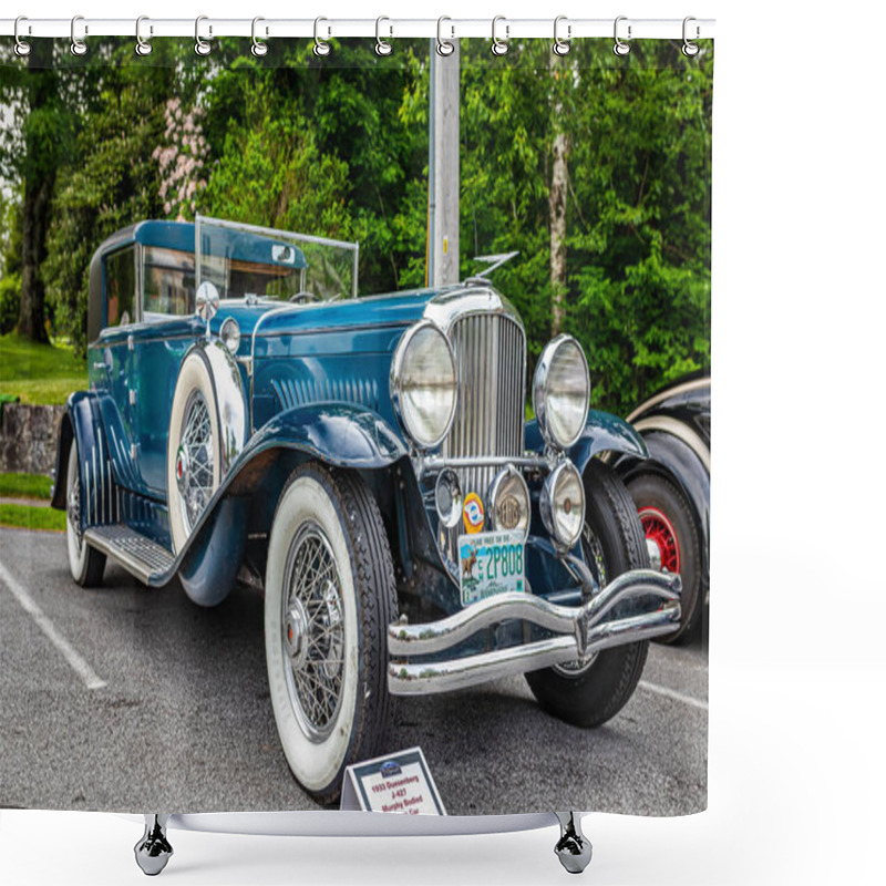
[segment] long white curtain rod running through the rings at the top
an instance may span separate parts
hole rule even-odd
[[[25,4],[27,6],[27,4]],[[9,7],[7,7],[9,9]],[[683,19],[631,19],[619,16],[617,23],[612,19],[570,19],[558,17],[557,34],[562,40],[574,40],[586,37],[612,38],[614,25],[621,40],[671,39],[682,40],[684,37]],[[549,19],[394,19],[381,17],[377,19],[258,19],[260,27],[257,35],[261,40],[317,37],[328,40],[331,37],[365,37],[382,39],[396,38],[437,38],[476,37],[492,39],[493,30],[499,38],[518,40],[522,38],[554,38],[554,17]],[[714,35],[714,19],[690,19],[686,34],[690,40],[705,40]],[[199,29],[203,40],[218,37],[253,37],[253,19],[216,19],[202,16],[198,24],[194,19],[92,19],[78,16],[72,19],[19,19],[18,34],[28,38],[72,38],[85,40],[94,37],[136,37],[144,40],[155,37],[179,37],[194,39],[195,27]],[[439,29],[441,31],[439,32]],[[0,37],[16,34],[16,19],[0,19]]]

